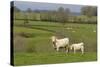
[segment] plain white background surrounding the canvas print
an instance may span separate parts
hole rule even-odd
[[[0,67],[12,67],[10,65],[10,1],[0,0]],[[18,0],[15,0],[18,1]],[[78,5],[97,5],[100,12],[99,0],[19,0],[33,2],[48,2],[48,3],[63,3],[63,4],[78,4]],[[100,13],[98,13],[98,21],[100,21]],[[98,34],[100,34],[100,23],[98,22]],[[98,35],[98,43],[99,42]],[[30,67],[74,67],[74,66],[91,66],[97,67],[100,64],[100,45],[98,44],[98,62],[82,62],[82,63],[64,63],[64,64],[49,64],[49,65],[30,65]],[[29,66],[28,66],[29,67]]]

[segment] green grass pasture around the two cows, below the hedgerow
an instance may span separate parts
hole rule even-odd
[[[68,29],[70,28],[70,29]],[[85,54],[56,52],[50,40],[52,35],[66,36],[70,44],[84,42]],[[14,65],[54,64],[97,60],[96,24],[14,21]]]

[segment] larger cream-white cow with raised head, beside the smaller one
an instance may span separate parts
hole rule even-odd
[[[64,47],[66,49],[66,52],[68,52],[69,38],[58,39],[56,36],[52,36],[51,40],[53,42],[53,47],[57,51],[59,51],[60,47]]]

